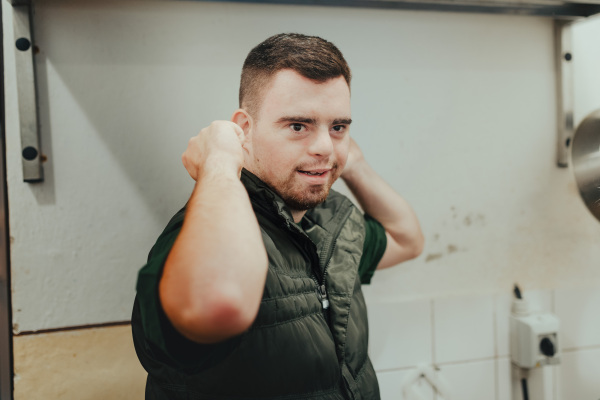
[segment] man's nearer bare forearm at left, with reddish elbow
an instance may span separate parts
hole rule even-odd
[[[159,288],[175,328],[206,343],[243,332],[258,311],[266,271],[260,229],[238,176],[200,173]]]

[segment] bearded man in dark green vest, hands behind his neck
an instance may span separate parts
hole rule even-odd
[[[379,398],[360,286],[423,236],[349,136],[350,77],[330,42],[275,35],[231,121],[190,140],[196,186],[137,284],[147,399]],[[340,176],[367,215],[330,191]]]

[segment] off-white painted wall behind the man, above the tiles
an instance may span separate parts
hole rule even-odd
[[[180,165],[187,139],[229,118],[248,50],[282,31],[340,47],[354,73],[352,134],[423,225],[424,254],[378,273],[369,300],[600,283],[600,224],[571,172],[555,167],[549,19],[41,2],[48,162],[46,181],[31,185],[21,181],[10,6],[2,4],[17,332],[129,318],[137,271],[192,188]],[[600,107],[597,93],[578,81],[578,118]]]

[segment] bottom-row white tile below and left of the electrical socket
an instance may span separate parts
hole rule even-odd
[[[438,376],[448,386],[446,397],[438,400],[493,400],[496,398],[495,360],[440,366]]]

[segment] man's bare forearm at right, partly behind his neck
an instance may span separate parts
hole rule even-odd
[[[423,249],[423,234],[408,202],[364,159],[357,160],[342,177],[363,210],[378,220],[394,241],[394,254],[384,267],[418,256]]]

